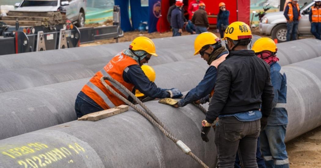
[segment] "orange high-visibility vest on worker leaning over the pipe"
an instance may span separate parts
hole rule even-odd
[[[97,72],[87,84],[82,88],[88,97],[94,100],[101,108],[109,109],[116,106],[125,104],[122,100],[118,99],[116,95],[110,92],[100,81],[102,76],[110,76],[123,84],[128,90],[133,91],[134,85],[129,84],[123,79],[123,72],[128,71],[128,66],[139,65],[136,60],[125,55],[124,53],[117,54],[113,59],[111,59],[108,64]],[[105,82],[110,85],[116,92],[122,96],[128,98],[128,94],[121,89],[117,84],[105,80]]]

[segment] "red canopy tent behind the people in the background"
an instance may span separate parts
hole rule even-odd
[[[184,6],[192,0],[184,0]],[[226,9],[230,11],[230,23],[234,21],[243,21],[247,24],[250,23],[250,1],[249,0],[202,0],[206,5],[206,12],[208,15],[208,20],[211,25],[216,25],[217,14],[219,13],[219,3],[224,2],[226,4]],[[165,32],[169,30],[169,23],[166,19],[167,12],[169,9],[169,0],[161,1],[161,17],[157,23],[157,31]],[[173,3],[173,2],[172,2]],[[187,9],[187,8],[186,8]]]

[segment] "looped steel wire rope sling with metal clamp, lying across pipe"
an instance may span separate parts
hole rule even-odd
[[[105,80],[109,80],[111,82],[114,82],[118,86],[120,86],[122,89],[124,89],[129,96],[131,96],[146,112],[144,112],[142,109],[136,107],[133,103],[128,101],[125,97],[117,93],[114,89],[112,89]],[[178,140],[169,130],[167,127],[165,127],[162,122],[150,111],[142,101],[140,101],[132,92],[130,92],[126,87],[124,87],[121,83],[116,81],[113,78],[110,78],[108,76],[103,76],[100,78],[100,81],[102,84],[114,95],[116,95],[120,100],[124,101],[126,104],[128,104],[130,107],[134,108],[139,114],[143,115],[148,121],[150,121],[153,125],[155,125],[158,129],[160,129],[161,132],[163,132],[170,140],[172,140],[185,154],[191,156],[198,164],[202,165],[204,168],[208,168],[208,166],[200,160],[197,156],[195,156],[191,149],[188,148],[181,140]]]

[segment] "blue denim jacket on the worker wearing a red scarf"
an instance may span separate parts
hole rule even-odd
[[[280,64],[272,63],[270,65],[271,82],[274,88],[274,99],[272,113],[267,119],[267,125],[288,124],[288,112],[284,108],[286,104],[286,75]]]

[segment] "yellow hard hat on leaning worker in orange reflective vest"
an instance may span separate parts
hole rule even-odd
[[[132,50],[143,50],[149,54],[152,54],[154,56],[158,56],[156,54],[156,48],[154,42],[144,36],[136,37],[133,41],[132,44],[129,46]]]

